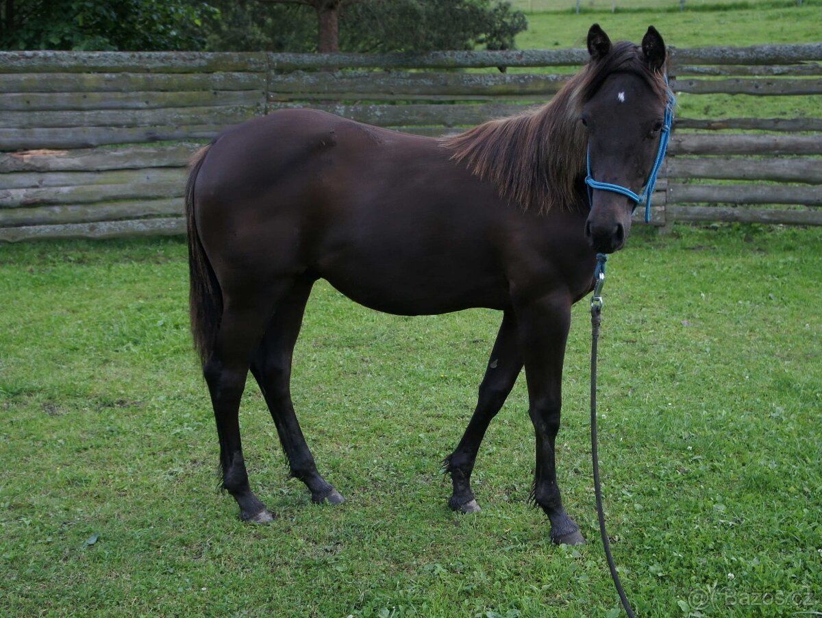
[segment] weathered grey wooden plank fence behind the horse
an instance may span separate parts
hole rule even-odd
[[[580,49],[0,53],[0,241],[183,233],[187,159],[225,127],[310,105],[439,135],[544,103],[586,60]],[[822,224],[820,60],[822,44],[672,49],[683,109],[652,223]],[[702,95],[792,104],[727,118],[693,113]]]

